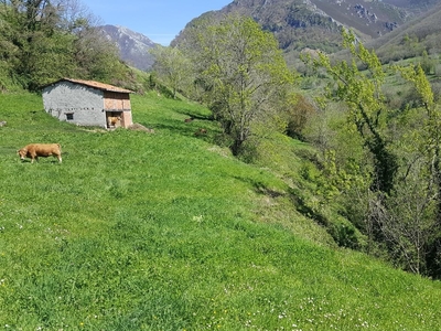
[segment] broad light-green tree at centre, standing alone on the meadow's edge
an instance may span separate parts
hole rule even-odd
[[[255,134],[255,126],[270,122],[275,105],[293,83],[272,34],[250,18],[227,15],[194,26],[192,60],[195,83],[203,99],[233,139],[234,154]]]

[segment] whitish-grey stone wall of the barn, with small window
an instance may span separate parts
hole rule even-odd
[[[44,109],[60,120],[82,126],[106,127],[104,93],[100,89],[58,82],[43,89]]]

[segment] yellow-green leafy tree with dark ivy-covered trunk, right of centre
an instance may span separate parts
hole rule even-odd
[[[385,73],[375,52],[369,52],[356,42],[352,32],[342,30],[344,46],[349,50],[353,61],[332,65],[327,55],[320,53],[315,66],[325,68],[332,83],[327,96],[344,102],[348,108],[348,122],[363,138],[364,145],[373,156],[374,173],[372,190],[389,194],[398,170],[397,158],[390,150],[384,134],[384,96],[381,85]],[[356,60],[367,70],[358,70]]]

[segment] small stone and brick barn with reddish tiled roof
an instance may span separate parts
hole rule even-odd
[[[80,126],[132,125],[129,89],[94,81],[63,78],[43,87],[46,113]]]

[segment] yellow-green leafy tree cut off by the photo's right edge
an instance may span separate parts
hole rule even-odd
[[[413,84],[421,98],[420,109],[423,113],[420,115],[421,125],[418,130],[411,136],[413,143],[413,159],[418,160],[410,163],[407,174],[417,173],[418,182],[422,188],[422,193],[419,195],[418,201],[423,204],[421,214],[427,215],[431,211],[430,217],[424,220],[418,231],[413,232],[412,238],[418,238],[422,243],[419,252],[420,265],[427,265],[429,273],[432,276],[440,277],[441,271],[441,109],[434,103],[433,90],[427,78],[421,65],[396,67],[404,78]],[[410,145],[410,143],[409,143]],[[422,163],[420,167],[416,164]],[[413,217],[413,223],[418,218]],[[406,236],[406,232],[402,234]],[[417,246],[417,245],[415,245]],[[429,260],[427,257],[430,252],[434,256]],[[419,265],[419,267],[420,267]],[[419,268],[420,269],[420,268]],[[435,271],[434,271],[435,270]]]

